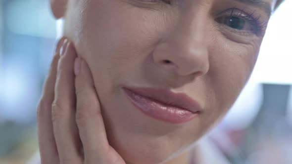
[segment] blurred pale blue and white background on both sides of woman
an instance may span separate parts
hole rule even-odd
[[[60,24],[48,1],[0,0],[0,164],[38,157],[36,107]],[[272,16],[250,81],[207,136],[231,164],[292,164],[291,9],[286,0]]]

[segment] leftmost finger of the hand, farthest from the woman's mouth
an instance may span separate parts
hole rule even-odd
[[[54,98],[57,64],[63,41],[64,38],[60,39],[56,45],[49,74],[44,83],[43,93],[38,104],[38,139],[42,164],[58,164],[59,161],[51,123],[51,104]]]

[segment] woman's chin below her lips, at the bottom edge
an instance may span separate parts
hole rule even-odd
[[[108,141],[126,164],[161,164],[172,157],[178,150],[164,137],[147,138],[143,135],[123,134],[118,137],[110,135]]]

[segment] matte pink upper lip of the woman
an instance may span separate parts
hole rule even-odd
[[[174,93],[168,89],[148,87],[124,87],[124,89],[128,89],[136,94],[163,104],[179,107],[193,113],[202,112],[200,105],[185,93]]]

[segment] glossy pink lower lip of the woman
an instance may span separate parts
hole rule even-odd
[[[186,123],[195,118],[198,113],[193,113],[185,109],[163,104],[151,100],[124,88],[127,97],[135,107],[141,110],[147,116],[166,122],[166,123]]]

